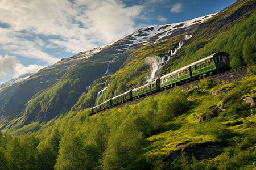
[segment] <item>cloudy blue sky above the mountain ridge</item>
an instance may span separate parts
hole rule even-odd
[[[0,0],[0,84],[140,28],[214,14],[236,0]]]

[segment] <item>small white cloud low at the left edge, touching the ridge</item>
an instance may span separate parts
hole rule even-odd
[[[16,78],[28,73],[36,73],[42,68],[43,66],[39,65],[25,67],[17,61],[15,56],[5,55],[5,57],[2,57],[0,55],[0,77],[6,76],[6,71],[13,73],[13,78]]]

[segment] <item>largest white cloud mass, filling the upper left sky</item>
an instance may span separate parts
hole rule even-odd
[[[109,44],[138,29],[134,20],[143,6],[119,0],[0,1],[0,45],[15,55],[53,64],[47,50],[78,53]]]

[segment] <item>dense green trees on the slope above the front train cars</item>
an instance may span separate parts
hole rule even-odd
[[[220,51],[230,54],[230,67],[232,69],[255,63],[255,16],[256,11],[228,30],[222,30],[222,33],[214,37],[213,40],[209,41],[209,39],[202,37],[194,40],[187,46],[185,56],[174,62],[172,71]]]

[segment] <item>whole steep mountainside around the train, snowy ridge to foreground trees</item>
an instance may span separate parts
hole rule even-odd
[[[215,52],[228,52],[233,68],[255,63],[255,6],[237,0],[217,14],[142,28],[1,84],[0,169],[255,169],[255,65],[235,81],[212,76],[90,115]]]

